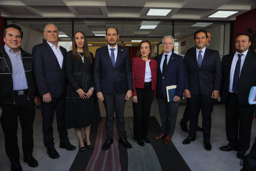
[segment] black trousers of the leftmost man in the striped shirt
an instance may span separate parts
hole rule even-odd
[[[27,94],[14,95],[15,104],[1,105],[2,118],[0,118],[5,139],[5,151],[9,160],[19,160],[17,129],[18,117],[22,129],[23,155],[31,157],[34,147],[33,122],[35,118],[34,100],[27,100]]]

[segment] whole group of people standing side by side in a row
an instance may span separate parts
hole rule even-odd
[[[202,111],[204,148],[211,150],[211,113],[219,92],[226,107],[226,132],[229,144],[220,150],[238,150],[243,158],[249,149],[254,105],[248,104],[250,88],[256,85],[256,54],[248,51],[250,37],[235,38],[236,53],[220,60],[219,52],[206,48],[210,34],[198,30],[194,34],[196,47],[185,58],[172,52],[174,39],[164,36],[164,53],[153,58],[154,50],[148,40],[139,44],[136,58],[116,44],[119,35],[115,27],[106,29],[108,42],[96,50],[95,59],[89,52],[86,35],[77,31],[72,38],[73,50],[66,51],[57,43],[58,29],[47,24],[43,32],[46,42],[33,47],[32,54],[23,51],[22,30],[18,25],[3,29],[5,45],[0,49],[0,121],[5,136],[5,149],[12,170],[22,170],[17,145],[18,117],[22,127],[23,160],[37,167],[33,158],[34,103],[41,101],[43,141],[50,158],[60,157],[54,148],[53,118],[56,113],[60,148],[74,150],[67,129],[75,128],[79,150],[93,149],[90,126],[101,122],[98,100],[106,109],[107,140],[102,150],[113,144],[114,113],[119,135],[118,142],[132,148],[125,138],[124,108],[132,97],[134,139],[140,146],[150,143],[149,116],[153,99],[157,99],[161,133],[155,140],[171,142],[174,134],[180,99],[189,105],[189,136],[183,144],[195,140],[198,116]],[[209,34],[209,35],[208,35]],[[12,85],[12,86],[10,86]],[[176,85],[174,99],[167,99],[166,87]],[[96,98],[97,97],[97,98]],[[256,99],[255,99],[256,100]],[[184,130],[184,125],[183,125]],[[82,130],[85,138],[82,137]],[[239,135],[239,137],[238,137]]]

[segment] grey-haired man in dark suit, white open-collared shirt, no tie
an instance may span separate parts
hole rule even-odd
[[[34,75],[37,83],[43,117],[43,141],[50,158],[60,157],[54,148],[52,122],[56,111],[60,148],[75,150],[65,130],[65,103],[67,80],[65,76],[66,49],[58,43],[55,25],[47,24],[43,32],[46,42],[33,47]]]

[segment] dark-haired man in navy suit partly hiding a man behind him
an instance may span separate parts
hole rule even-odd
[[[205,47],[207,32],[198,30],[194,34],[196,49],[185,54],[184,95],[190,106],[189,136],[183,144],[195,141],[198,115],[201,107],[203,117],[204,148],[211,150],[211,113],[214,99],[219,96],[221,87],[221,61],[219,52]]]

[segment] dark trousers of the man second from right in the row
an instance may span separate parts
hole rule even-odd
[[[202,111],[202,128],[204,141],[210,141],[211,138],[211,113],[213,111],[214,99],[211,95],[202,95],[199,90],[198,95],[191,95],[189,99],[190,106],[190,124],[189,124],[189,136],[195,137],[198,126],[198,116],[200,113],[200,107]]]

